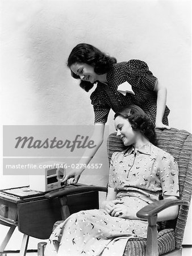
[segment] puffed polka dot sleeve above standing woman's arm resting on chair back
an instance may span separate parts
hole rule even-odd
[[[154,90],[157,84],[157,77],[149,71],[147,63],[141,60],[130,60],[127,64],[128,80],[135,86],[144,86]],[[128,81],[129,82],[129,81]]]

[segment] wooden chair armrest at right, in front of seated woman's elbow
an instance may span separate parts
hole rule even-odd
[[[162,210],[172,207],[173,205],[187,205],[189,206],[189,201],[181,200],[181,199],[164,199],[160,201],[156,201],[155,203],[148,204],[147,206],[140,209],[136,216],[139,218],[150,218],[156,216],[157,213]]]

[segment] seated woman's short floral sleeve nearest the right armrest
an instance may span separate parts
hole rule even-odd
[[[159,171],[162,196],[180,196],[178,184],[178,164],[172,155],[162,156]]]

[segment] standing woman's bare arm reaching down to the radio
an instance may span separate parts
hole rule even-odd
[[[103,143],[104,130],[105,130],[105,123],[96,123],[94,125],[94,132],[93,132],[93,135],[91,136],[91,141],[94,141],[94,144],[96,144],[96,147],[86,148],[84,155],[80,159],[80,162],[78,162],[79,166],[87,166],[87,164],[89,164],[91,158],[93,158],[98,148]],[[67,180],[68,184],[77,183],[78,179],[80,179],[80,175],[84,170],[85,170],[84,167],[82,167],[81,169],[74,168],[64,177],[62,182],[65,182]]]

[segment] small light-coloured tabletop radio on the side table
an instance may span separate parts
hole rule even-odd
[[[65,168],[56,168],[54,166],[64,166],[64,163],[43,163],[39,166],[43,166],[45,168],[40,169],[39,175],[29,176],[31,190],[46,192],[62,187],[61,182],[66,174]]]

